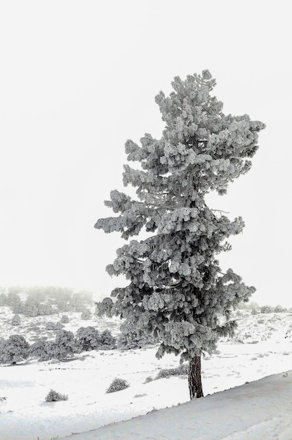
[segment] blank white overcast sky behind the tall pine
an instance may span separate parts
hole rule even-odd
[[[164,127],[154,96],[175,75],[217,79],[225,113],[267,128],[253,168],[213,208],[246,221],[221,257],[260,303],[292,306],[290,2],[209,0],[0,3],[0,285],[110,295],[112,212],[124,143]]]

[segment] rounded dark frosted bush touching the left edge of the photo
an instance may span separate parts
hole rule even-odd
[[[15,364],[27,359],[29,356],[29,343],[23,336],[12,335],[1,343],[0,362]]]

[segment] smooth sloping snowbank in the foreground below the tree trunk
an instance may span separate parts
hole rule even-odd
[[[292,371],[173,408],[66,437],[72,440],[291,440]]]

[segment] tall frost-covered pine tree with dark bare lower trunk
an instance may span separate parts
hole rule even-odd
[[[113,190],[105,205],[119,216],[95,224],[126,240],[142,228],[153,233],[117,250],[107,272],[124,274],[129,284],[114,289],[116,300],[104,299],[99,313],[125,318],[141,334],[159,335],[158,358],[174,353],[189,361],[193,399],[203,396],[201,354],[211,353],[220,336],[233,334],[231,309],[255,291],[232,269],[222,273],[216,259],[230,250],[225,239],[240,233],[244,221],[211,209],[205,195],[225,194],[229,182],[248,172],[265,124],[224,115],[223,103],[211,95],[215,79],[208,70],[185,81],[175,77],[172,86],[170,96],[156,96],[166,122],[161,139],[145,134],[140,146],[126,142],[128,161],[140,162],[140,169],[124,166],[124,186],[137,188],[138,200]]]

